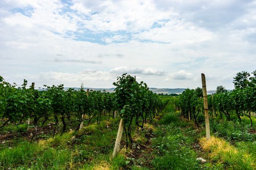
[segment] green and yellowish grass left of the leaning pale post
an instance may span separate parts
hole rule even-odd
[[[0,150],[0,169],[119,169],[126,165],[124,155],[110,159],[119,120],[106,119],[85,126],[80,134],[70,131],[33,143],[16,141],[12,148]]]

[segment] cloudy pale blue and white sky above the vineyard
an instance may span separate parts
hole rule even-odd
[[[1,0],[0,76],[36,87],[222,85],[256,70],[255,0]]]

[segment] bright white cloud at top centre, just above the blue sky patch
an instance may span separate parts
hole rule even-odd
[[[79,4],[79,5],[78,5]],[[136,32],[149,29],[159,20],[168,20],[177,15],[171,10],[161,11],[149,0],[121,0],[121,1],[81,1],[74,0],[72,9],[83,15],[90,15],[90,20],[82,17],[80,22],[85,28],[94,31],[121,31]]]

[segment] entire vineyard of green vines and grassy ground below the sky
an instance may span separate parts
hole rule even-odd
[[[158,96],[128,74],[113,85],[38,91],[0,77],[0,168],[256,169],[255,78],[207,96],[209,140],[202,88]]]

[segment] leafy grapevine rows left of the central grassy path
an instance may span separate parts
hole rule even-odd
[[[116,93],[93,90],[86,92],[83,85],[77,91],[73,88],[64,91],[64,85],[47,86],[47,90],[38,91],[33,87],[26,88],[26,80],[21,88],[17,88],[16,84],[11,85],[0,76],[0,117],[6,119],[2,127],[7,122],[22,123],[27,119],[33,119],[37,130],[39,120],[42,119],[43,125],[49,117],[53,117],[55,129],[61,119],[63,133],[66,130],[66,119],[70,120],[75,116],[77,122],[74,124],[78,125],[78,130],[85,118],[89,124],[93,117],[97,117],[99,124],[102,113],[108,113],[110,117],[111,111],[118,110],[120,116],[130,119],[127,124],[131,124],[133,117],[136,117],[137,126],[143,128],[144,122],[158,114],[166,104],[166,101],[160,100],[157,94],[149,91],[145,83],[137,83],[133,80],[132,93],[135,94],[131,93],[131,89],[120,87],[118,82],[113,84],[117,86]],[[129,136],[130,127],[128,128]],[[53,136],[54,133],[55,130]]]

